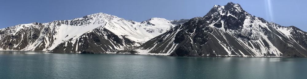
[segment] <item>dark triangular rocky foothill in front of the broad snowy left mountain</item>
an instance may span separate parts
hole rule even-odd
[[[105,52],[116,52],[118,48],[125,45],[134,46],[135,41],[119,37],[108,29],[94,29],[87,32],[77,39],[61,43],[51,52],[99,54]],[[142,43],[139,43],[142,44]]]

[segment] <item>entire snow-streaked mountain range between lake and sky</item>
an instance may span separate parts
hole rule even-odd
[[[105,13],[0,30],[1,50],[169,56],[307,56],[307,33],[252,16],[239,4],[215,5],[190,20],[135,22]]]

